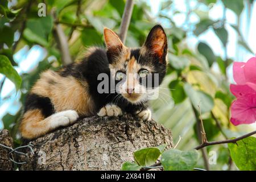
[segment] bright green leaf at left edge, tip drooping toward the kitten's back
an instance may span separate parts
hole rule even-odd
[[[22,78],[19,76],[18,72],[11,65],[8,57],[0,55],[0,73],[9,78],[12,82],[14,82],[16,90],[20,88],[22,83]]]

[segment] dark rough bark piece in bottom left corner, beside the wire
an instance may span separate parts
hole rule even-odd
[[[13,148],[13,139],[10,137],[8,130],[1,130],[0,131],[0,143]],[[0,146],[0,171],[10,171],[13,170],[13,162],[9,160],[8,153],[10,152],[9,149]],[[11,157],[13,155],[11,154]]]

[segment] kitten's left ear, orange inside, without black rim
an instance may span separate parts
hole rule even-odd
[[[118,35],[109,28],[104,28],[104,39],[107,49],[122,49],[125,47]]]

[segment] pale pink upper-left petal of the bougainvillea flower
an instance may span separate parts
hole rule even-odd
[[[234,62],[233,64],[233,75],[234,75],[234,81],[236,81],[237,84],[245,84],[245,73],[243,71],[243,68],[245,67],[245,63],[243,62]]]

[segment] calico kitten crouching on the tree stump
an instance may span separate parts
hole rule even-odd
[[[154,95],[166,74],[168,48],[162,26],[151,29],[141,48],[125,47],[108,28],[104,38],[106,50],[89,48],[80,63],[40,75],[26,99],[19,128],[23,138],[39,137],[76,122],[80,116],[126,112],[151,119],[148,96]],[[109,78],[107,82],[103,77]]]

